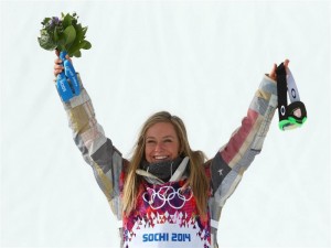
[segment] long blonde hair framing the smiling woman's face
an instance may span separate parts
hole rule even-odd
[[[192,151],[188,141],[184,122],[179,117],[172,116],[168,111],[156,112],[146,120],[141,128],[125,180],[122,198],[124,213],[129,215],[129,213],[136,207],[139,185],[141,184],[141,176],[136,173],[136,170],[139,169],[139,165],[145,158],[146,132],[151,126],[158,122],[172,123],[179,138],[180,155],[190,158],[190,175],[188,179],[188,185],[190,185],[193,191],[199,214],[204,216],[207,211],[207,191],[210,187],[210,183],[203,168],[206,157],[202,151]]]

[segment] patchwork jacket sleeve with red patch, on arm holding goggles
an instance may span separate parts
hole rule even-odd
[[[241,182],[245,170],[261,151],[276,108],[277,85],[265,75],[242,126],[212,160],[212,187],[218,207],[223,207]]]

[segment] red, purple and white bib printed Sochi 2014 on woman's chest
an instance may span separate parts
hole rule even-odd
[[[138,207],[124,217],[124,247],[211,247],[210,218],[201,219],[184,183],[141,185]]]

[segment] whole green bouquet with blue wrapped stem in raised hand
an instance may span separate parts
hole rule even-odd
[[[90,43],[85,40],[86,26],[77,22],[77,14],[63,14],[62,18],[45,18],[43,29],[38,37],[41,47],[47,51],[57,50],[63,62],[64,72],[57,75],[56,87],[63,101],[68,101],[81,93],[79,82],[72,63],[66,60],[70,56],[81,57],[81,50],[89,50]]]

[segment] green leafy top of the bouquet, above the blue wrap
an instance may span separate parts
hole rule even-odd
[[[87,26],[82,26],[77,22],[76,13],[61,13],[57,17],[45,18],[42,22],[43,29],[40,31],[41,36],[38,37],[41,47],[47,51],[58,50],[65,51],[72,57],[81,57],[81,50],[89,50],[90,43],[85,40]]]

